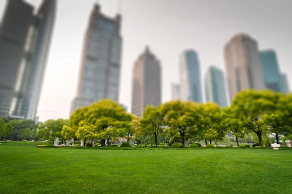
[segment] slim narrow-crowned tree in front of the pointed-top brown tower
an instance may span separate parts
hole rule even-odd
[[[142,131],[147,135],[154,136],[155,145],[158,145],[158,136],[164,132],[164,119],[155,106],[147,106],[140,120]]]

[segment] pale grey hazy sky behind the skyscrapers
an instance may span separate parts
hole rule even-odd
[[[26,1],[35,7],[41,2]],[[0,16],[5,2],[0,0]],[[292,0],[58,0],[37,111],[40,121],[69,118],[83,38],[95,2],[101,4],[107,16],[114,17],[119,11],[123,17],[120,102],[128,110],[133,64],[146,45],[161,61],[163,102],[171,99],[170,84],[179,80],[179,56],[183,50],[198,52],[204,80],[210,65],[225,72],[224,45],[241,32],[256,39],[260,50],[272,48],[277,52],[280,70],[287,73],[292,86]],[[203,82],[201,86],[203,89]]]

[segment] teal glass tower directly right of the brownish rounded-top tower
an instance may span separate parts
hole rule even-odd
[[[275,92],[284,92],[277,55],[273,50],[260,52],[266,88]]]

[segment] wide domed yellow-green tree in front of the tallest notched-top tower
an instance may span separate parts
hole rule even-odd
[[[116,128],[110,130],[114,127],[115,122],[130,122],[131,120],[132,116],[126,113],[124,107],[110,99],[103,99],[97,103],[91,104],[90,106],[85,106],[75,110],[74,113],[70,116],[68,127],[63,129],[64,132],[62,134],[72,136],[73,132],[75,131],[76,135],[79,128],[83,128],[84,125],[87,125],[87,127],[85,127],[86,130],[79,130],[80,133],[78,132],[78,139],[88,136],[82,136],[81,134],[84,134],[83,132],[86,132],[85,134],[89,133],[90,130],[88,127],[90,126],[92,130],[91,137],[100,138],[101,145],[105,146],[106,140],[108,139],[109,141],[109,138],[113,137],[115,134],[113,131],[115,131]]]

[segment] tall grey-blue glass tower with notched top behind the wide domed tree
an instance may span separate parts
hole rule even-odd
[[[119,14],[110,19],[101,13],[98,4],[94,5],[85,33],[77,96],[72,101],[70,114],[103,98],[119,100],[120,25]]]

